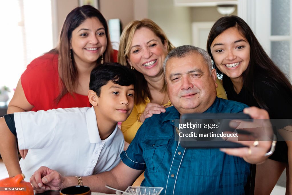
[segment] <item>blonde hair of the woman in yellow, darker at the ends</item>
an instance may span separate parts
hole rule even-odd
[[[131,65],[128,63],[128,58],[130,56],[130,49],[131,49],[131,43],[134,37],[134,34],[136,30],[146,27],[154,34],[159,37],[162,44],[166,44],[167,46],[167,53],[171,51],[173,48],[173,44],[168,40],[166,37],[166,34],[164,31],[152,20],[150,19],[142,19],[142,20],[133,20],[132,22],[128,23],[126,27],[124,28],[121,38],[120,38],[120,44],[119,44],[119,52],[118,52],[118,62],[121,65],[125,65],[128,67],[131,67]],[[149,97],[152,99],[147,81],[145,80],[142,73],[139,73],[137,70],[135,70],[135,74],[137,77],[137,87],[135,87],[135,103],[139,104],[141,102],[145,102],[146,97]],[[166,84],[164,84],[163,88],[161,89],[162,92],[165,92],[167,90]]]

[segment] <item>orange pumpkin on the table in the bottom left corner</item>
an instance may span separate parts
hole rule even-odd
[[[33,195],[34,190],[29,182],[25,182],[23,174],[18,174],[15,177],[8,177],[6,179],[0,180],[1,191],[0,194],[9,194],[9,195]],[[23,187],[26,187],[25,191],[16,191],[22,190]],[[5,189],[6,188],[6,189]],[[10,188],[10,189],[9,189]],[[16,188],[12,189],[11,188]]]

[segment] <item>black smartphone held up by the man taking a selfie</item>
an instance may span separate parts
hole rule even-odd
[[[225,135],[238,140],[249,136],[252,119],[244,113],[193,113],[181,115],[179,121],[175,125],[180,129],[178,139],[184,148],[240,148],[246,146],[228,141]],[[233,127],[229,125],[231,121]]]

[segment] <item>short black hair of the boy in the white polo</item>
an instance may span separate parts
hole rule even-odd
[[[121,86],[135,86],[136,77],[133,70],[119,63],[108,62],[95,67],[90,73],[89,89],[100,97],[101,87],[112,81]]]

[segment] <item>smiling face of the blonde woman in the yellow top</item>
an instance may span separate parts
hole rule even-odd
[[[163,74],[162,65],[166,55],[166,43],[162,43],[152,30],[142,27],[135,31],[128,62],[144,77]]]

